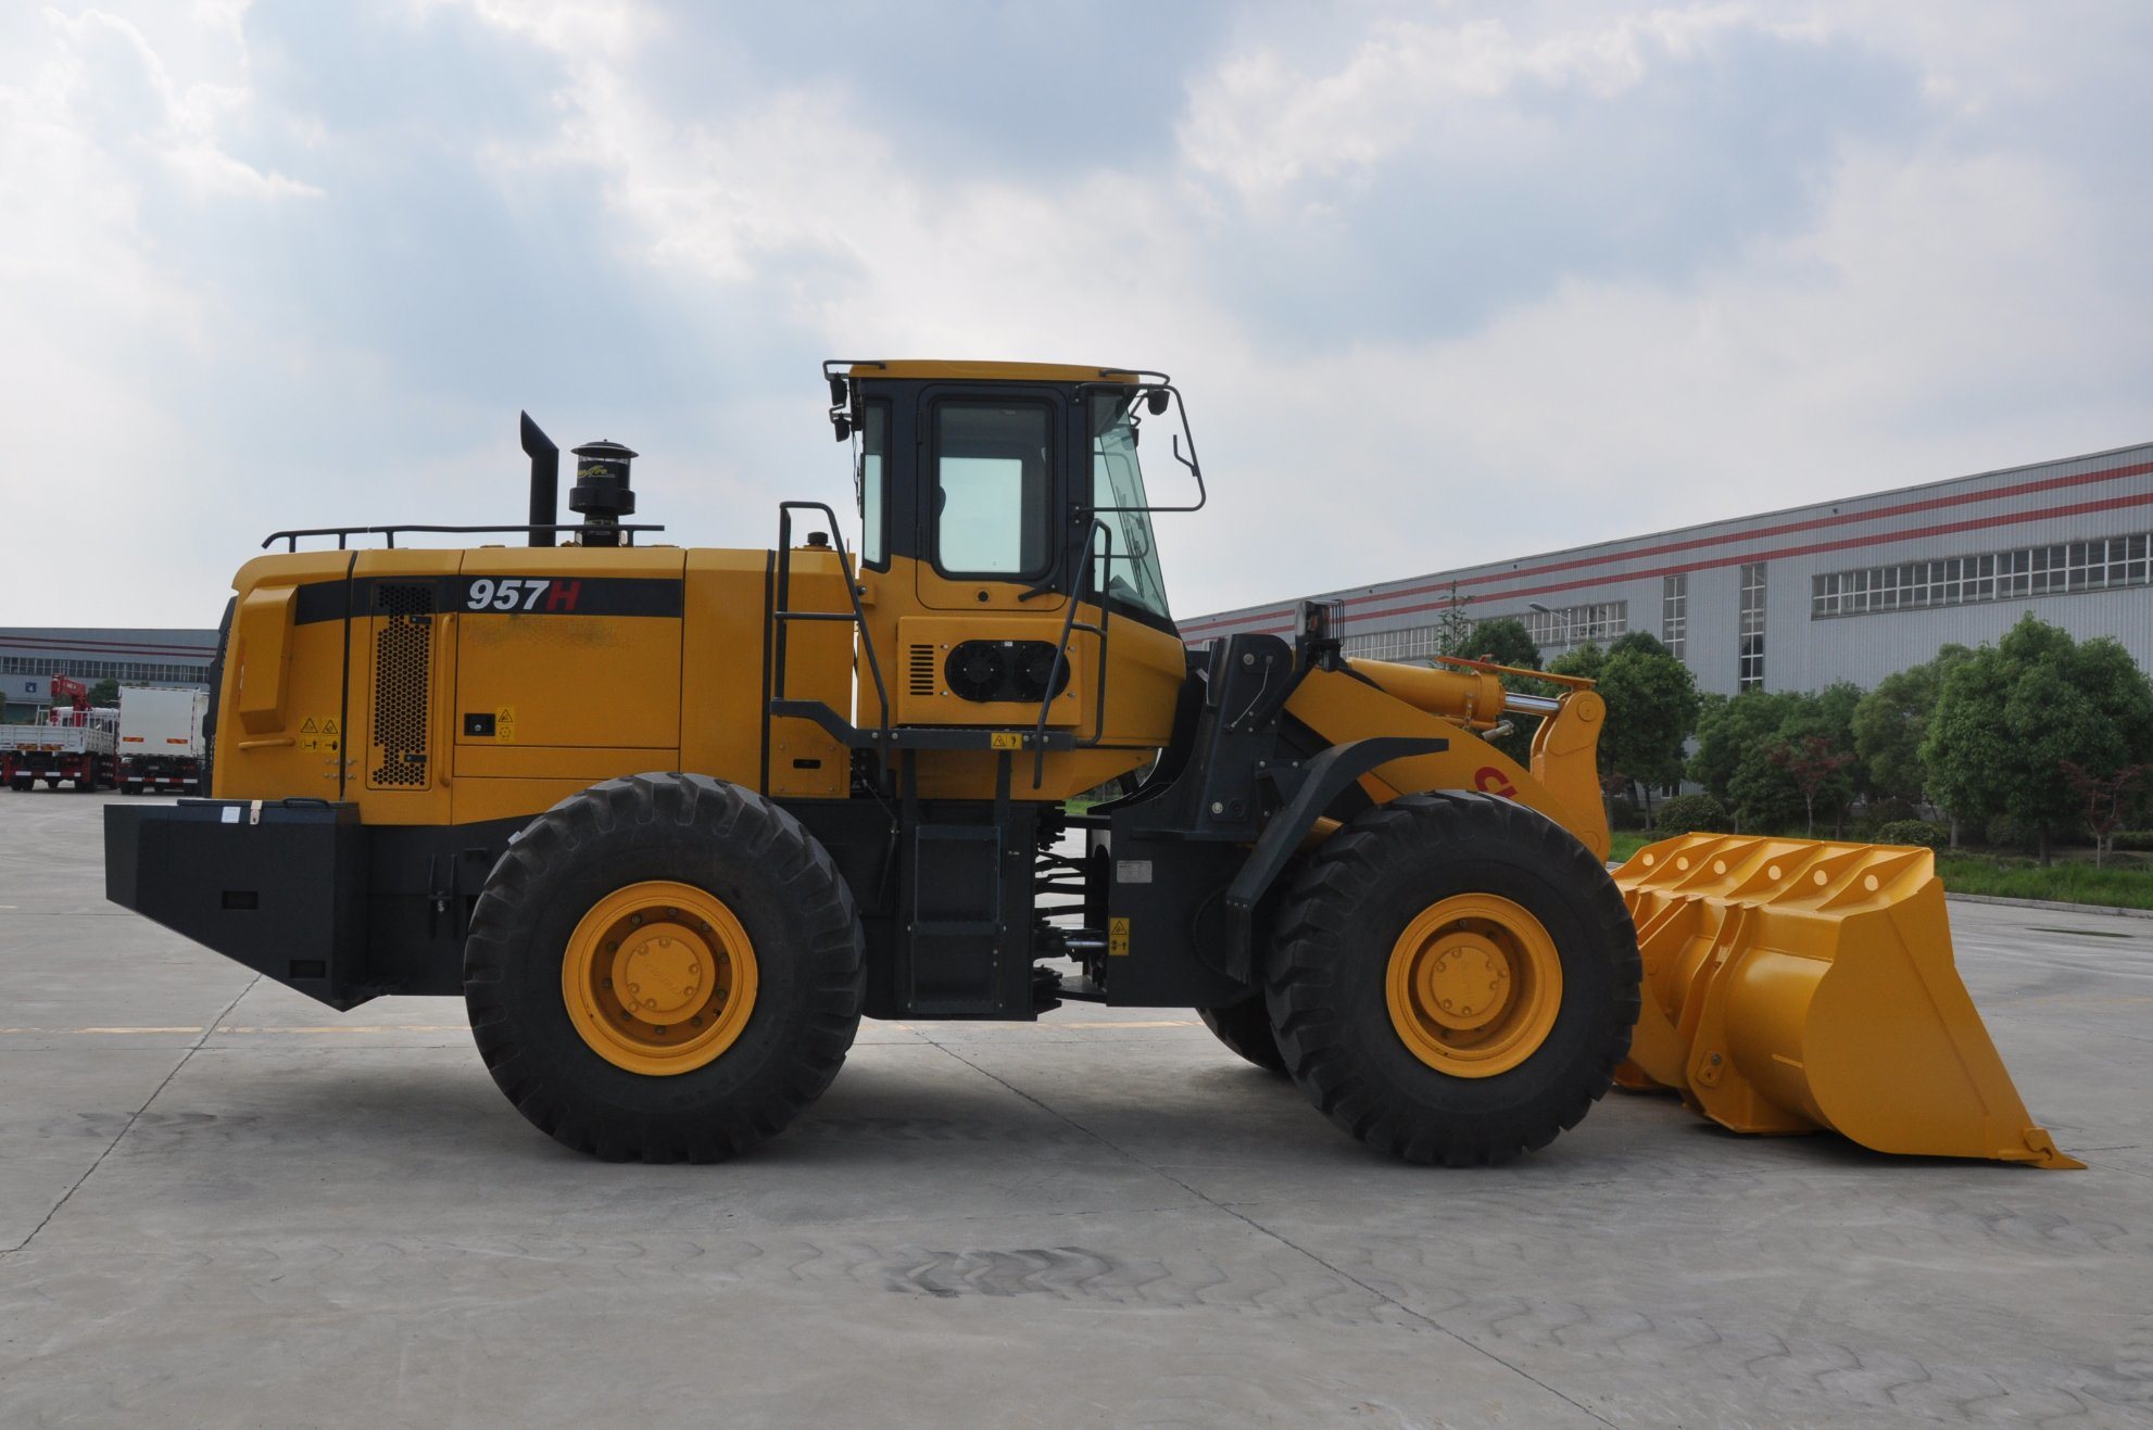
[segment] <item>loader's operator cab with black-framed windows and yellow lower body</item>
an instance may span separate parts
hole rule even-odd
[[[1143,762],[1184,678],[1152,515],[1204,506],[1171,379],[1029,362],[822,373],[853,450],[857,590],[878,665],[861,670],[859,726],[885,724],[870,674],[887,672],[889,726],[1036,730],[1018,747],[1100,752],[1057,760],[1070,777]],[[1178,502],[1145,485],[1145,424],[1152,452],[1193,478]]]

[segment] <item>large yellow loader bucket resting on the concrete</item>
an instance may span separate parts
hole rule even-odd
[[[1927,849],[1690,833],[1615,870],[1645,961],[1623,1088],[1737,1133],[2080,1167],[2026,1116]]]

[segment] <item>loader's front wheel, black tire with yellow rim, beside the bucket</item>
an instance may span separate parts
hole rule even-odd
[[[1492,1165],[1608,1090],[1638,976],[1621,894],[1565,829],[1483,795],[1408,795],[1309,859],[1266,1004],[1294,1083],[1341,1128],[1415,1163]]]

